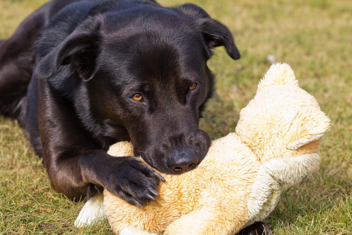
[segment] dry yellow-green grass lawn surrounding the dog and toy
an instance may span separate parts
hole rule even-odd
[[[268,55],[288,62],[301,87],[314,95],[332,119],[321,149],[317,174],[290,188],[266,219],[275,234],[352,233],[352,2],[349,0],[189,0],[225,23],[242,58],[223,49],[209,61],[217,92],[201,127],[213,139],[232,131],[238,114],[253,98],[267,71]],[[39,7],[43,0],[2,0],[0,38]],[[159,1],[164,6],[185,1]],[[76,229],[82,203],[53,192],[41,160],[17,123],[0,118],[0,233],[109,234],[107,223]]]

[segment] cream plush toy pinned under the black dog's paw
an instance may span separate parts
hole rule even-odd
[[[195,170],[160,173],[166,180],[158,186],[160,197],[143,208],[105,190],[104,208],[102,197],[93,198],[76,225],[100,213],[117,234],[235,234],[266,218],[285,186],[318,167],[329,123],[290,66],[272,65],[241,110],[235,132],[215,140]],[[133,155],[133,146],[119,142],[108,153],[122,152]]]

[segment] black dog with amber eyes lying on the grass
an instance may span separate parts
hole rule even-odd
[[[71,199],[102,187],[154,199],[162,178],[194,169],[210,145],[198,128],[214,77],[211,49],[240,57],[230,31],[201,8],[153,0],[53,0],[0,43],[0,112],[18,119],[52,187]]]

